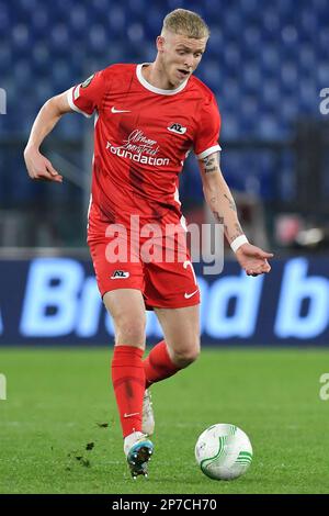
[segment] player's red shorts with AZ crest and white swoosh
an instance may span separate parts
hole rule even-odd
[[[104,231],[97,235],[93,231],[89,235],[88,244],[101,296],[116,289],[137,289],[144,295],[147,310],[181,309],[198,304],[200,291],[188,248],[169,251],[169,258],[167,253],[167,259],[161,260],[161,257],[166,257],[166,249],[168,251],[168,246],[164,248],[161,239],[154,246],[152,250],[157,250],[154,259],[149,260],[149,255],[143,249],[146,242],[140,238],[138,240],[137,247],[117,238],[114,245],[114,238],[105,236]],[[116,253],[114,261],[113,249],[117,251],[121,247],[117,242],[127,246],[127,256],[125,253]]]

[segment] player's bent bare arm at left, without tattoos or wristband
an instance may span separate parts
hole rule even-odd
[[[63,181],[63,177],[53,167],[49,159],[41,154],[39,146],[61,116],[70,112],[72,112],[72,110],[69,106],[66,91],[47,100],[39,110],[24,150],[24,159],[31,179],[55,182]]]

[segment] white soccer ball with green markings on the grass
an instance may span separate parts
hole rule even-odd
[[[235,425],[209,426],[198,437],[195,459],[201,471],[214,480],[234,480],[248,470],[252,447],[248,436]]]

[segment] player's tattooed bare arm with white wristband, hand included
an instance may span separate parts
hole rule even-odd
[[[231,244],[238,237],[242,237],[243,231],[238,220],[235,200],[220,171],[219,152],[200,159],[198,164],[205,200],[216,222],[224,225],[225,236]],[[237,249],[236,256],[248,276],[258,276],[271,270],[268,258],[272,258],[273,255],[248,242]]]

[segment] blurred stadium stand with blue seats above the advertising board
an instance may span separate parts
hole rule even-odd
[[[304,244],[328,243],[329,115],[319,111],[319,92],[329,87],[328,0],[0,0],[0,87],[8,102],[0,115],[2,246],[83,245],[92,122],[66,116],[47,138],[44,152],[66,178],[58,187],[27,178],[23,148],[33,120],[48,98],[97,69],[152,60],[161,20],[178,7],[211,26],[196,76],[217,96],[223,171],[256,243],[259,210],[272,246],[298,247],[300,228],[315,227],[322,237],[306,234]],[[193,158],[181,200],[192,218],[203,205]]]

